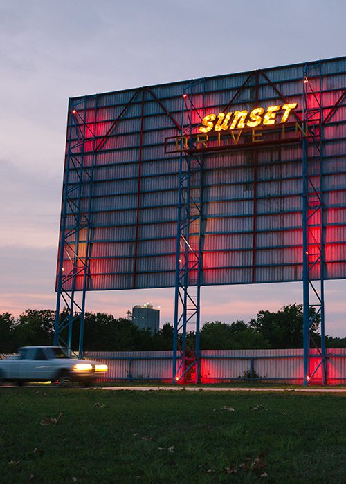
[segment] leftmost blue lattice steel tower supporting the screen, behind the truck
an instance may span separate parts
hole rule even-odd
[[[95,96],[97,106],[98,98]],[[83,106],[84,104],[84,106]],[[95,110],[96,112],[96,110]],[[79,322],[78,353],[82,355],[86,290],[89,288],[91,257],[91,196],[95,165],[95,136],[86,125],[86,101],[69,102],[69,124],[62,196],[62,221],[57,267],[57,306],[54,344],[64,344],[71,351],[73,324]],[[96,115],[94,121],[94,132]],[[93,142],[91,165],[84,165],[86,141]],[[82,208],[82,196],[87,205]],[[64,267],[64,260],[69,262]],[[77,285],[78,283],[78,285]],[[60,305],[65,305],[60,318]],[[67,329],[67,338],[66,330]]]

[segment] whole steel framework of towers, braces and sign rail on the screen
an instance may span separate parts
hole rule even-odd
[[[244,82],[239,88],[233,89],[233,97],[224,107],[226,113],[232,109],[233,104],[239,104],[239,93],[249,89],[247,102],[259,101],[260,84],[271,86],[271,96],[280,99],[282,104],[288,104],[286,96],[280,92],[277,82],[272,82],[266,72],[252,71],[246,73]],[[240,83],[239,83],[240,84]],[[84,336],[84,313],[86,292],[91,287],[90,262],[93,256],[93,223],[91,219],[94,168],[97,166],[98,152],[102,151],[105,143],[114,136],[122,115],[132,102],[138,104],[137,118],[140,120],[138,149],[138,185],[136,186],[136,236],[134,239],[134,270],[131,279],[133,288],[138,288],[140,279],[140,211],[143,192],[141,165],[145,161],[145,106],[147,102],[155,102],[161,107],[161,114],[170,119],[170,124],[177,134],[181,135],[181,149],[179,155],[179,186],[178,211],[176,225],[176,257],[175,264],[175,297],[174,297],[174,347],[172,381],[194,381],[200,378],[200,300],[203,271],[203,245],[206,232],[203,220],[203,174],[207,153],[215,151],[213,147],[197,147],[196,138],[192,131],[201,125],[205,111],[206,80],[194,80],[185,85],[181,98],[181,123],[163,104],[157,92],[150,87],[143,87],[131,92],[127,104],[121,105],[121,112],[116,120],[111,120],[107,132],[97,133],[98,124],[98,95],[88,96],[88,102],[93,100],[95,116],[92,122],[87,120],[87,100],[78,98],[69,103],[68,136],[66,140],[66,163],[64,171],[64,187],[62,198],[62,218],[60,227],[60,245],[57,266],[57,306],[55,319],[55,344],[64,344],[71,348],[73,326],[78,322],[80,328],[78,352],[82,355]],[[269,91],[269,92],[270,92]],[[194,102],[197,99],[198,101]],[[130,96],[129,96],[130,97]],[[327,353],[325,348],[325,294],[324,283],[327,279],[325,264],[325,227],[326,209],[324,200],[323,177],[325,127],[330,122],[340,106],[345,106],[346,91],[343,91],[337,102],[328,113],[324,112],[324,86],[322,76],[322,62],[307,63],[304,66],[302,78],[302,118],[300,114],[293,113],[295,120],[300,124],[301,131],[295,137],[280,140],[270,140],[271,145],[295,144],[302,147],[302,282],[304,306],[304,358],[303,358],[303,384],[316,380],[317,374],[322,373],[322,383],[327,383]],[[180,102],[180,100],[179,100]],[[149,103],[148,103],[149,104]],[[196,104],[196,105],[194,105]],[[225,103],[226,104],[226,103]],[[326,104],[328,104],[326,102]],[[330,103],[329,103],[330,104]],[[168,106],[169,104],[167,104]],[[119,109],[119,111],[120,111]],[[172,108],[170,108],[172,109]],[[180,108],[178,107],[180,115]],[[149,112],[149,111],[148,111]],[[139,114],[140,113],[140,114]],[[293,123],[292,123],[293,124]],[[293,133],[293,127],[291,134]],[[297,131],[297,129],[295,129]],[[179,136],[178,136],[179,138]],[[194,142],[192,142],[194,139]],[[186,141],[185,141],[186,140]],[[186,145],[184,143],[186,142]],[[87,145],[87,150],[86,150]],[[203,145],[203,144],[202,144]],[[247,149],[253,152],[249,156],[253,174],[253,207],[252,220],[252,261],[251,282],[259,281],[256,266],[257,225],[259,209],[257,207],[258,158],[260,147],[253,142],[247,142],[233,147],[223,146],[224,151],[230,149]],[[88,151],[88,161],[85,161],[84,152]],[[300,156],[300,155],[299,155]],[[252,182],[252,180],[251,180]],[[175,187],[174,187],[175,188]],[[252,202],[251,202],[252,203]],[[174,202],[175,204],[175,202]],[[175,223],[175,221],[174,221]],[[175,227],[174,227],[175,230]],[[174,242],[175,243],[175,242]],[[173,251],[174,252],[174,249]],[[139,259],[138,259],[139,260]],[[301,263],[301,261],[300,261]],[[250,267],[250,264],[249,264]],[[138,275],[139,274],[139,275]],[[250,279],[249,279],[250,280]],[[60,315],[62,305],[66,312]],[[311,310],[313,308],[314,310]],[[320,320],[321,344],[320,348],[313,341],[311,329]],[[188,348],[188,330],[196,331],[196,346]],[[316,346],[319,352],[318,363],[310,367],[310,346]],[[316,355],[313,356],[316,361]],[[318,373],[317,373],[318,372]],[[317,374],[316,374],[317,373]]]

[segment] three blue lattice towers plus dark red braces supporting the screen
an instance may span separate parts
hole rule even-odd
[[[316,77],[313,70],[318,70],[320,89],[312,89],[309,77]],[[259,77],[262,76],[270,84],[285,104],[288,102],[280,93],[275,84],[268,79],[263,71],[253,71],[248,75],[244,84],[233,95],[233,98],[224,108],[228,111],[230,106],[236,102],[237,96],[248,87],[250,80],[255,78],[254,101],[258,99]],[[322,75],[321,64],[307,64],[304,68],[303,77],[303,127],[307,136],[302,137],[303,148],[303,296],[304,296],[304,384],[313,379],[316,371],[322,367],[322,382],[327,380],[327,357],[325,350],[325,314],[324,314],[324,279],[325,279],[325,255],[324,255],[324,203],[322,186],[322,160],[323,160],[323,131],[324,127],[336,113],[339,106],[343,105],[346,99],[346,91],[339,100],[325,115],[323,119],[322,106]],[[186,135],[191,133],[201,121],[199,111],[193,104],[193,91],[196,84],[204,83],[204,80],[197,80],[188,84],[183,92],[181,125],[167,111],[161,100],[154,92],[144,87],[138,89],[131,97],[127,105],[122,109],[118,118],[113,122],[107,133],[102,136],[95,136],[97,115],[95,114],[94,129],[86,124],[86,102],[80,100],[78,104],[70,105],[69,138],[66,150],[66,168],[64,179],[64,192],[62,200],[62,225],[59,246],[58,277],[57,277],[57,312],[55,320],[55,344],[64,344],[71,348],[73,324],[80,321],[79,354],[82,355],[84,336],[84,312],[86,291],[90,282],[90,257],[92,251],[92,230],[91,220],[91,198],[93,195],[93,169],[97,162],[98,151],[107,142],[107,138],[114,134],[118,122],[128,107],[141,94],[141,121],[140,121],[140,146],[138,153],[138,201],[137,201],[137,229],[136,244],[138,241],[138,224],[140,209],[140,165],[143,147],[143,120],[145,95],[150,100],[155,100],[163,112],[170,118],[178,134]],[[201,91],[199,91],[200,93]],[[310,106],[309,100],[315,100]],[[95,96],[97,107],[98,96]],[[316,107],[317,102],[317,107]],[[84,104],[84,106],[83,106]],[[204,106],[204,102],[203,102]],[[313,107],[314,106],[314,107]],[[201,108],[199,107],[199,110]],[[97,113],[97,109],[95,109]],[[193,115],[199,116],[199,122],[192,122]],[[184,127],[184,115],[188,116],[189,123]],[[303,133],[304,135],[304,133]],[[75,141],[77,140],[77,141]],[[86,142],[92,142],[93,156],[89,166],[84,166],[84,147]],[[256,244],[256,187],[257,187],[257,149],[254,149],[254,207],[253,207],[253,281],[255,277],[255,244]],[[173,381],[194,380],[199,381],[200,373],[200,351],[199,351],[199,327],[200,327],[200,288],[201,270],[203,268],[203,152],[196,153],[192,145],[180,154],[179,169],[179,206],[178,223],[176,236],[176,285],[175,285],[175,310],[174,310],[174,360],[173,360]],[[316,178],[316,166],[319,167],[319,176]],[[313,171],[314,170],[314,171]],[[73,178],[71,177],[73,171]],[[312,176],[314,174],[314,176]],[[87,210],[81,210],[81,201],[87,194]],[[77,196],[76,196],[77,195]],[[69,224],[67,218],[69,217]],[[320,230],[316,232],[316,219]],[[71,220],[73,223],[71,224]],[[71,226],[72,225],[72,226]],[[81,234],[82,243],[81,243]],[[316,235],[317,234],[317,235]],[[135,245],[136,247],[137,245]],[[312,250],[311,250],[312,249]],[[135,254],[137,250],[135,248]],[[63,261],[68,257],[71,263],[71,270],[66,273]],[[316,281],[311,279],[311,270],[318,266],[320,268],[320,279],[317,281],[320,288],[316,288]],[[82,288],[76,290],[77,278],[82,280]],[[134,287],[136,287],[136,257],[134,261]],[[310,293],[317,301],[310,301]],[[64,318],[60,317],[61,303],[66,306]],[[310,304],[311,303],[311,304]],[[316,313],[310,317],[310,307],[316,308]],[[309,374],[310,361],[310,328],[316,320],[317,315],[321,319],[320,362]],[[196,330],[196,348],[190,351],[186,344],[188,325]],[[67,333],[67,337],[66,337]],[[178,352],[181,352],[181,358]],[[179,366],[177,366],[179,364]]]

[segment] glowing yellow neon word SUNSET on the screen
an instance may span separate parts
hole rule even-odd
[[[199,128],[201,133],[209,131],[226,131],[233,129],[255,128],[263,124],[272,126],[273,124],[283,124],[289,120],[291,112],[298,106],[297,102],[292,104],[283,104],[277,106],[268,106],[265,110],[262,107],[253,109],[250,113],[246,111],[235,111],[235,113],[208,114],[202,120],[202,126]],[[277,115],[281,114],[281,118]]]

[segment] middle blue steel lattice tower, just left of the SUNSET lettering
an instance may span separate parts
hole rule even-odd
[[[198,81],[199,82],[199,81]],[[198,83],[197,82],[197,83]],[[195,109],[192,104],[192,82],[183,93],[181,135],[188,131],[192,133],[192,113]],[[187,111],[189,124],[184,130],[185,98],[188,97],[187,90],[191,88],[190,112]],[[190,156],[188,150],[190,145],[185,146],[182,140],[180,164],[179,164],[179,202],[178,202],[178,226],[176,234],[176,284],[174,299],[174,346],[173,346],[173,375],[174,383],[184,379],[185,375],[194,367],[195,381],[199,380],[199,304],[201,286],[201,211],[202,211],[202,164],[197,157]],[[198,184],[192,183],[195,180]],[[194,196],[192,196],[194,189]],[[197,189],[197,196],[196,196]],[[196,232],[196,225],[198,230]],[[194,226],[194,231],[192,227]],[[194,242],[192,242],[192,239]],[[192,274],[197,274],[195,280]],[[192,287],[196,286],[196,293]],[[194,324],[196,328],[196,348],[194,354],[188,350],[186,335],[188,324]],[[181,338],[181,362],[177,368],[177,349],[179,331]]]

